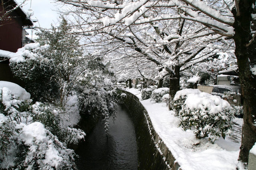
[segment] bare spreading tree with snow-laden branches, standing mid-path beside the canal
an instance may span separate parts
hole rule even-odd
[[[122,1],[104,4],[98,1],[98,4],[90,4],[60,1],[77,6],[76,14],[80,17],[86,10],[83,22],[79,24],[80,29],[73,29],[72,32],[94,37],[86,42],[87,46],[97,44],[102,49],[102,55],[110,55],[111,51],[125,51],[130,58],[138,57],[154,63],[158,67],[155,70],[160,71],[159,80],[168,75],[171,99],[180,89],[180,71],[220,50],[232,48],[226,45],[226,41],[232,40],[225,40],[202,24],[181,18],[184,12],[171,8],[176,6],[174,3],[170,6],[165,4],[168,6],[166,8],[162,2]],[[110,4],[113,7],[108,6]],[[174,18],[165,18],[169,15]]]

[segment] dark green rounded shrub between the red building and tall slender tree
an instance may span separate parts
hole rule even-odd
[[[25,82],[25,89],[34,101],[52,102],[59,95],[59,86],[54,80],[56,67],[47,58],[26,59],[25,62],[10,63],[12,73]]]

